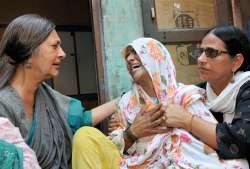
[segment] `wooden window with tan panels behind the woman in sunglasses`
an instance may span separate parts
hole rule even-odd
[[[216,25],[232,24],[228,0],[142,0],[145,37],[166,45],[176,66],[177,81],[199,82],[197,47]]]

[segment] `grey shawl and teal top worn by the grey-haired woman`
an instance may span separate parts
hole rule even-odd
[[[0,116],[7,117],[20,129],[26,143],[35,151],[43,169],[71,168],[71,139],[84,125],[92,125],[90,111],[81,102],[39,85],[33,119],[25,116],[22,100],[9,85],[0,90]]]

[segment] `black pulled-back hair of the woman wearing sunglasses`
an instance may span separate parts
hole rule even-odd
[[[237,27],[219,26],[210,30],[207,34],[213,34],[221,39],[229,55],[234,58],[241,53],[244,61],[237,71],[247,71],[250,66],[250,42],[247,36]]]

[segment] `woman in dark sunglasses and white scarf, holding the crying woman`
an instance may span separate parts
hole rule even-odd
[[[205,82],[198,86],[206,90],[206,105],[219,123],[206,122],[172,104],[166,110],[166,124],[189,130],[214,148],[222,159],[249,161],[249,40],[236,27],[216,27],[202,39],[200,51],[198,71]]]

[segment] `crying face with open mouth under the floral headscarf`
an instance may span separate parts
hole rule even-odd
[[[126,57],[126,62],[128,71],[136,83],[141,84],[151,81],[147,70],[134,50]]]

